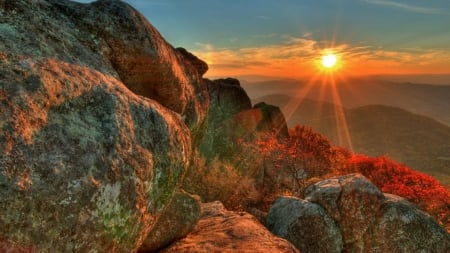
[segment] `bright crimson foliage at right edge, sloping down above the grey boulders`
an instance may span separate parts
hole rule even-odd
[[[450,231],[450,192],[432,176],[417,172],[386,157],[353,155],[346,172],[359,172],[382,192],[415,203]]]

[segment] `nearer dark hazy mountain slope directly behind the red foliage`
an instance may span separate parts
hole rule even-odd
[[[253,102],[260,101],[279,106],[289,126],[310,126],[333,144],[349,148],[348,143],[339,141],[336,115],[342,112],[354,152],[386,155],[450,185],[450,127],[433,118],[399,107],[364,105],[349,109],[281,94],[263,96]]]

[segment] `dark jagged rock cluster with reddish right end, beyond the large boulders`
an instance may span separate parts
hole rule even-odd
[[[207,131],[199,147],[207,158],[235,156],[239,138],[255,137],[261,133],[288,136],[281,110],[265,103],[252,108],[250,98],[238,80],[205,81],[208,83],[210,105]]]

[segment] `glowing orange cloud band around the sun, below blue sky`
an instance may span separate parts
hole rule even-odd
[[[450,52],[443,50],[384,49],[374,45],[339,44],[289,37],[281,44],[246,48],[216,48],[197,43],[194,51],[209,65],[208,76],[266,75],[302,78],[321,70],[321,57],[332,51],[346,75],[450,72]]]

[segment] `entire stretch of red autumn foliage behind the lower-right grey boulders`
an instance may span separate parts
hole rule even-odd
[[[395,194],[415,203],[450,231],[450,191],[432,176],[417,172],[386,157],[353,155],[333,147],[328,139],[311,128],[297,126],[289,137],[259,136],[256,145],[244,144],[262,156],[265,166],[263,195],[279,193],[301,197],[308,180],[336,174],[361,173],[382,192]]]

